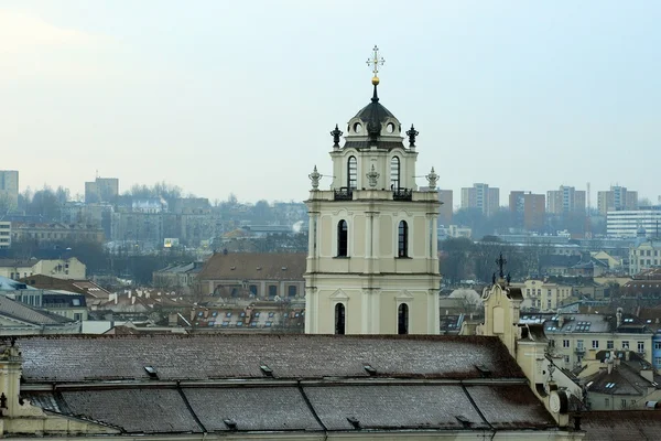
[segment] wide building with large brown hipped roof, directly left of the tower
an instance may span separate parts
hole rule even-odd
[[[288,299],[305,294],[305,255],[216,252],[197,275],[203,294],[224,299]]]

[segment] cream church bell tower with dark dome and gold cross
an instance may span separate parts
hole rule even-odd
[[[317,168],[305,202],[310,241],[305,272],[308,334],[438,334],[436,219],[438,175],[415,184],[416,137],[378,96],[378,47],[370,103],[333,136],[329,190]],[[408,141],[408,146],[405,142]]]

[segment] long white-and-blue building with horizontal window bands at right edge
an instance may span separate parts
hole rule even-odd
[[[606,213],[609,237],[661,237],[661,205]]]

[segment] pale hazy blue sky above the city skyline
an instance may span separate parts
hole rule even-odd
[[[418,174],[661,194],[659,1],[0,0],[0,169],[210,200],[301,201],[329,130],[379,95]],[[329,180],[322,181],[327,187]],[[424,185],[424,179],[419,181]]]

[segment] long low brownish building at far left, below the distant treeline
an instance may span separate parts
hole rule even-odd
[[[12,241],[76,243],[94,241],[102,244],[104,229],[100,226],[63,223],[18,223],[11,225]]]

